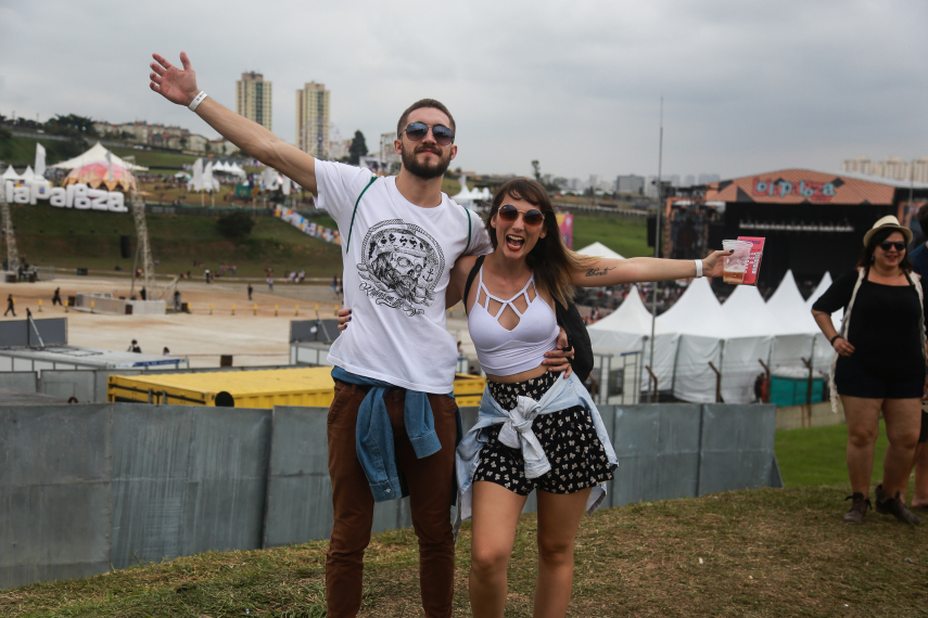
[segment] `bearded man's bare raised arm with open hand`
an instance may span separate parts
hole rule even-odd
[[[196,87],[196,73],[187,53],[180,52],[182,69],[167,62],[161,54],[152,54],[152,57],[155,62],[151,64],[151,89],[171,103],[190,105],[200,89]],[[316,193],[316,159],[312,156],[288,144],[257,123],[239,116],[211,96],[200,102],[195,113],[242,152]]]

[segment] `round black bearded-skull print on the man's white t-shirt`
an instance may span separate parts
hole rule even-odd
[[[403,219],[381,221],[368,230],[361,252],[360,288],[378,305],[403,309],[409,317],[432,306],[445,256],[425,230]]]

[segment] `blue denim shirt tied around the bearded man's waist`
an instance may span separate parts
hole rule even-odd
[[[403,472],[396,465],[393,448],[393,427],[386,413],[383,396],[391,388],[397,388],[389,382],[365,377],[343,370],[332,369],[332,377],[345,384],[370,386],[367,396],[358,408],[358,421],[355,428],[355,449],[364,468],[374,502],[386,502],[408,494]],[[454,394],[447,397],[454,399]],[[412,442],[418,459],[427,458],[442,450],[442,442],[435,434],[435,419],[427,394],[406,390],[406,403],[403,410],[406,435]],[[460,436],[460,413],[458,413],[458,435]]]

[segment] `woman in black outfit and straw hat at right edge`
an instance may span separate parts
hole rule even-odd
[[[921,424],[926,384],[925,300],[905,247],[912,231],[889,215],[864,235],[856,270],[831,284],[812,306],[818,327],[837,352],[831,363],[832,398],[841,397],[848,422],[851,507],[844,522],[861,524],[869,501],[879,415],[889,447],[876,511],[918,524],[903,502]],[[831,313],[844,307],[838,333]]]

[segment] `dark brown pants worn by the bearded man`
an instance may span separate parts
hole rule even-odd
[[[335,382],[329,408],[329,475],[332,478],[334,524],[326,556],[326,600],[329,618],[356,616],[361,602],[364,551],[370,542],[373,495],[355,449],[358,408],[367,389]],[[429,618],[452,615],[455,541],[450,507],[454,492],[457,405],[444,395],[429,395],[442,450],[417,459],[406,435],[403,408],[406,391],[384,396],[396,461],[406,475],[412,527],[419,539],[419,581]]]

